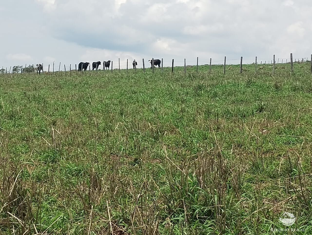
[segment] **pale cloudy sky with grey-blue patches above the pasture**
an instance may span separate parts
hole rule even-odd
[[[0,67],[164,58],[170,65],[309,57],[310,0],[10,0]],[[236,59],[236,60],[235,60]],[[130,65],[130,63],[129,63]],[[131,65],[132,66],[132,65]],[[47,68],[46,68],[47,69]]]

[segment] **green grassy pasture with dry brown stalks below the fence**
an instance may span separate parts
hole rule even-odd
[[[310,63],[243,68],[0,75],[0,234],[312,234]]]

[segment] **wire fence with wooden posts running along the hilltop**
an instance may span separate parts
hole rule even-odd
[[[172,67],[172,71],[174,67],[189,67],[189,66],[201,66],[201,65],[210,65],[210,66],[215,66],[215,65],[223,65],[224,67],[226,65],[237,65],[241,64],[246,65],[246,64],[282,64],[282,63],[293,63],[293,62],[307,62],[311,57],[296,57],[292,58],[275,58],[275,55],[273,58],[234,58],[234,59],[227,59],[226,57],[224,60],[217,60],[213,61],[212,58],[210,58],[210,61],[202,61],[199,60],[197,57],[197,60],[186,60],[184,61],[175,61],[174,59],[172,60],[163,60],[161,59],[161,65],[157,64],[157,66],[165,68],[165,67]],[[154,59],[155,61],[156,59]],[[146,68],[152,68],[152,60],[150,62],[144,63],[144,59],[141,61],[135,60],[137,62],[137,65],[135,65],[134,69],[146,69]],[[155,63],[156,64],[156,63]],[[312,65],[312,64],[311,64]],[[10,68],[3,68],[0,69],[0,74],[4,73],[34,73],[39,70],[39,66],[42,66],[42,69],[39,71],[39,73],[42,72],[48,72],[48,73],[55,73],[55,72],[61,72],[61,71],[78,71],[79,70],[79,65],[78,64],[62,64],[61,62],[59,63],[53,63],[53,64],[25,64],[23,65],[16,65],[16,66],[11,66]],[[156,66],[156,67],[157,67]],[[87,70],[91,70],[92,68],[92,63],[87,67]],[[105,69],[105,63],[101,63],[97,68],[94,68],[95,70],[103,70]],[[120,60],[118,58],[117,61],[111,61],[110,62],[110,70],[116,70],[116,69],[133,69],[133,64],[132,62],[129,61],[129,59],[124,59]],[[92,69],[93,70],[93,69]],[[107,68],[106,68],[107,70]],[[311,67],[312,71],[312,67]]]

